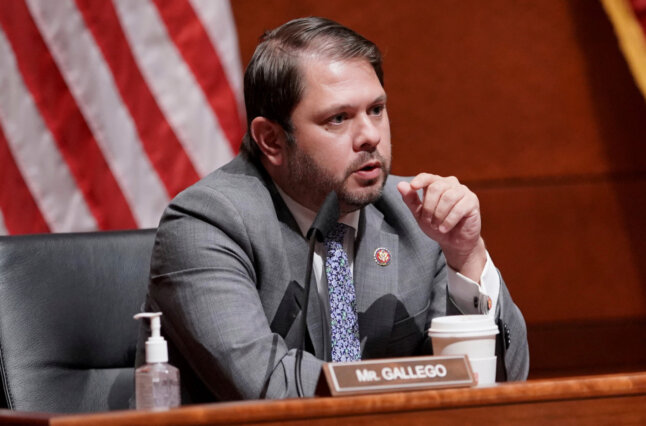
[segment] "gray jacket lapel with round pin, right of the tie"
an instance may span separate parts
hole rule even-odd
[[[384,356],[395,318],[398,282],[397,259],[399,237],[384,222],[383,214],[373,205],[364,208],[359,221],[355,246],[354,277],[361,350],[364,358]],[[385,248],[391,260],[386,266],[375,261],[375,251]]]

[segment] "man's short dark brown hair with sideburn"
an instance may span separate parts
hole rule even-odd
[[[252,158],[260,149],[251,137],[251,121],[268,118],[279,124],[293,143],[291,113],[303,94],[301,55],[313,52],[331,59],[365,59],[383,86],[381,52],[371,41],[325,18],[299,18],[266,32],[244,75],[247,133],[241,151]]]

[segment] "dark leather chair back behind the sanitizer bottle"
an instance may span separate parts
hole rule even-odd
[[[126,409],[154,230],[0,237],[0,376],[14,410]]]

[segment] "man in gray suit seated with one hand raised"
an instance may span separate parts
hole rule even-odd
[[[485,249],[475,194],[452,177],[388,176],[372,42],[326,19],[290,21],[256,49],[245,104],[242,153],[171,202],[155,241],[146,309],[163,312],[184,403],[296,396],[305,303],[306,395],[324,361],[432,353],[431,319],[461,313],[500,325],[499,380],[527,377],[525,323]],[[328,291],[327,245],[308,301],[303,291],[304,235],[332,190],[350,226],[339,240],[347,316]]]

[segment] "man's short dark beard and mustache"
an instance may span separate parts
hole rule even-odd
[[[358,210],[370,203],[377,201],[386,184],[390,173],[390,158],[384,158],[377,150],[373,152],[362,151],[359,157],[346,169],[342,179],[336,179],[329,172],[319,166],[314,158],[303,152],[298,143],[294,141],[287,148],[288,178],[292,189],[298,193],[301,203],[319,206],[330,191],[336,191],[342,213]],[[381,164],[382,182],[374,186],[378,179],[367,182],[366,187],[374,186],[370,190],[354,192],[348,188],[348,178],[354,171],[370,160],[378,160]],[[305,200],[310,203],[304,202]]]

